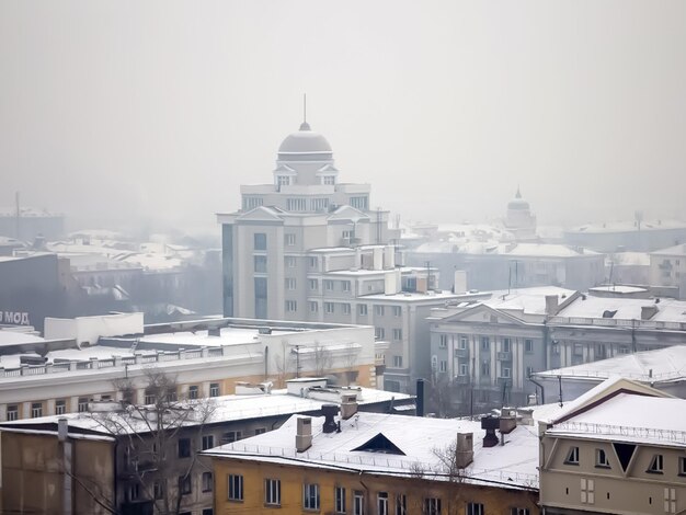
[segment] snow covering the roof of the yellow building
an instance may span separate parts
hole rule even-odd
[[[466,481],[538,488],[538,437],[534,426],[517,426],[505,435],[505,445],[484,448],[485,432],[480,422],[361,412],[341,421],[341,433],[323,433],[324,419],[313,417],[312,446],[305,453],[297,453],[297,419],[291,416],[278,430],[222,445],[206,454],[285,464],[297,460],[300,466],[408,476],[418,464],[426,471],[441,472],[436,454],[454,444],[458,433],[472,433],[475,457],[466,468]],[[379,434],[404,455],[354,450]]]

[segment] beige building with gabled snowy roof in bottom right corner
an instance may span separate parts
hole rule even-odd
[[[540,431],[540,505],[550,515],[686,511],[686,401],[618,379]]]

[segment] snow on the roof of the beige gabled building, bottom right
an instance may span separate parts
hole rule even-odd
[[[547,433],[686,447],[686,400],[619,393]]]

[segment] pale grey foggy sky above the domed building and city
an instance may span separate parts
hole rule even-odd
[[[0,3],[0,206],[209,221],[308,122],[404,220],[686,218],[683,1]],[[81,226],[88,225],[80,224]]]

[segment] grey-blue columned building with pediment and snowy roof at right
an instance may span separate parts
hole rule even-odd
[[[434,309],[434,377],[455,386],[458,412],[479,412],[526,404],[535,371],[684,344],[686,302],[622,291],[523,288]]]

